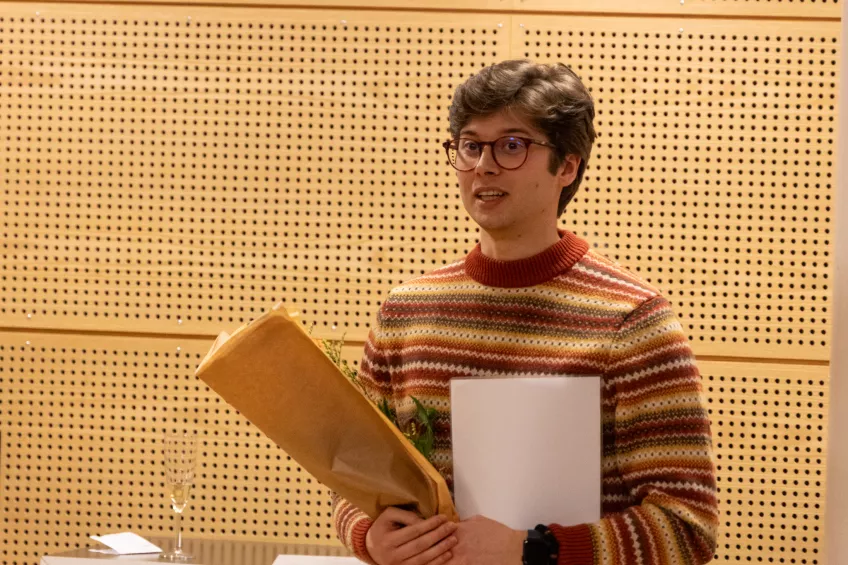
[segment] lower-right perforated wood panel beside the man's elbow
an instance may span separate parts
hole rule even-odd
[[[823,563],[828,368],[699,368],[718,468],[716,562]]]

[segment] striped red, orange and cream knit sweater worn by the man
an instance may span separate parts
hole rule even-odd
[[[602,518],[551,524],[560,565],[709,561],[718,527],[715,467],[701,377],[659,292],[583,240],[518,261],[484,256],[413,279],[382,304],[360,375],[403,426],[411,396],[439,410],[432,463],[453,490],[453,376],[601,375]],[[371,520],[333,495],[342,542],[371,562]]]

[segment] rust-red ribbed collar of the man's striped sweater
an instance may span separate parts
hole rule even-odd
[[[567,272],[589,250],[589,244],[565,230],[559,232],[559,242],[541,253],[501,261],[483,255],[478,243],[465,258],[465,272],[475,281],[486,286],[518,288],[535,286]]]

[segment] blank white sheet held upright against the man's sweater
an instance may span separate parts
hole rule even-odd
[[[454,498],[519,530],[601,517],[600,377],[451,379]]]

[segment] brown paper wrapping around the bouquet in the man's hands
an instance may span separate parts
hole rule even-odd
[[[458,521],[439,472],[279,305],[221,333],[195,375],[371,518],[401,506]]]

